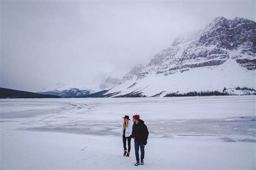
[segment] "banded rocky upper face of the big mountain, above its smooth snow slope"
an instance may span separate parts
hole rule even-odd
[[[233,20],[217,17],[204,31],[191,39],[174,39],[171,47],[157,53],[139,73],[143,78],[149,73],[175,73],[193,67],[223,64],[228,58],[235,58],[248,70],[256,66],[255,57],[256,24],[244,18]],[[233,51],[237,51],[233,54]],[[241,62],[239,59],[244,59]],[[246,64],[250,63],[250,64]]]

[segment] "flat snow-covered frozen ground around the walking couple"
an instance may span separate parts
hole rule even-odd
[[[1,99],[1,169],[255,169],[254,96]],[[124,115],[149,128],[123,157]]]

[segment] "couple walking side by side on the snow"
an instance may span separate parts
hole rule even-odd
[[[134,139],[134,148],[136,155],[136,164],[144,165],[144,148],[147,144],[147,137],[149,137],[149,131],[147,131],[147,126],[144,124],[144,121],[139,119],[139,115],[135,114],[132,117],[133,125],[129,122],[129,116],[125,115],[124,123],[122,126],[122,135],[123,135],[123,145],[124,145],[124,157],[129,157],[131,151],[131,138]],[[128,141],[128,151],[126,148],[126,140]],[[140,162],[139,162],[139,148],[140,148]]]

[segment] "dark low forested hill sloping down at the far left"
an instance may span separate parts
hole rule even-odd
[[[54,95],[46,95],[46,94],[38,94],[38,93],[32,93],[32,92],[26,92],[26,91],[5,89],[0,87],[0,98],[7,99],[7,98],[61,98],[61,97],[54,96]]]

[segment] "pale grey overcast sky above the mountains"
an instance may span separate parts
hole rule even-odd
[[[122,78],[218,16],[255,21],[255,1],[1,0],[1,87]]]

